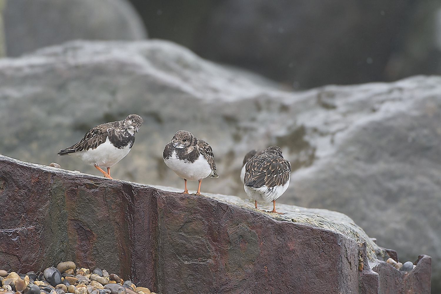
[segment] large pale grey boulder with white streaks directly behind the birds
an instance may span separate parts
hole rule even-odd
[[[56,153],[137,113],[145,123],[112,176],[182,191],[162,150],[184,129],[213,147],[220,178],[202,193],[245,197],[243,156],[280,145],[294,172],[277,205],[344,212],[403,262],[432,256],[439,290],[440,93],[435,76],[284,92],[170,42],[70,42],[0,60],[0,153],[99,175]]]

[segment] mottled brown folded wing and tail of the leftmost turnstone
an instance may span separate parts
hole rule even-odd
[[[68,155],[69,153],[80,152],[83,150],[89,150],[90,148],[95,149],[98,145],[104,143],[108,137],[108,128],[112,128],[111,124],[104,123],[92,130],[88,131],[81,141],[68,147],[66,149],[60,150],[59,155]]]

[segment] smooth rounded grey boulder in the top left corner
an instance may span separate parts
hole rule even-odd
[[[127,0],[8,0],[7,56],[68,40],[140,40],[142,20]]]

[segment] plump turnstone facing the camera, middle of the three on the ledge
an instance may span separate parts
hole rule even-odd
[[[198,192],[201,194],[201,182],[206,177],[218,178],[213,150],[206,141],[198,139],[186,130],[178,130],[172,141],[164,148],[165,164],[184,179],[185,189],[182,193],[188,194],[187,180],[199,181]]]

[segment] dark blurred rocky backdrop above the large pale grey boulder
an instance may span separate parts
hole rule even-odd
[[[149,35],[310,88],[441,74],[440,0],[130,0]]]

